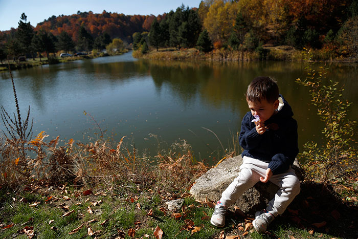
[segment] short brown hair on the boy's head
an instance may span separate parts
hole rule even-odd
[[[267,76],[259,76],[253,79],[246,92],[246,100],[255,103],[261,102],[262,99],[273,103],[278,97],[279,93],[276,81]]]

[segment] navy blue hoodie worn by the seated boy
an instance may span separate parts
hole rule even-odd
[[[294,163],[298,154],[297,122],[292,118],[291,106],[280,95],[283,107],[277,114],[266,120],[266,132],[259,135],[254,116],[248,112],[242,119],[239,141],[244,149],[243,156],[248,156],[269,163],[273,175],[285,172]],[[282,103],[282,102],[281,102]]]

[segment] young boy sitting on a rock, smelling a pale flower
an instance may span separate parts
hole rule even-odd
[[[250,112],[242,119],[239,141],[243,162],[239,176],[222,192],[211,224],[225,226],[227,208],[258,181],[279,186],[266,209],[255,213],[253,226],[259,233],[269,225],[300,192],[300,182],[290,167],[298,154],[297,122],[287,101],[279,95],[270,77],[256,77],[246,93]]]

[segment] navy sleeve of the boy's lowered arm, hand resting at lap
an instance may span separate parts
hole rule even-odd
[[[271,168],[273,175],[277,175],[286,171],[289,166],[294,163],[298,154],[298,134],[296,120],[293,120],[288,128],[289,131],[287,133],[287,137],[283,141],[285,143],[282,145],[282,153],[274,155],[268,166],[268,168]]]

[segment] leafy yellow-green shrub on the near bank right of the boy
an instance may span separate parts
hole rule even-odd
[[[314,70],[311,52],[306,50],[305,56],[307,76],[305,80],[297,79],[297,83],[309,88],[311,102],[324,122],[322,134],[325,140],[322,145],[313,141],[304,144],[304,151],[299,156],[306,161],[303,165],[306,176],[324,183],[335,177],[348,178],[358,171],[357,142],[353,137],[356,121],[347,118],[351,103],[343,99],[344,88],[339,88],[339,82],[325,80],[328,69]]]

